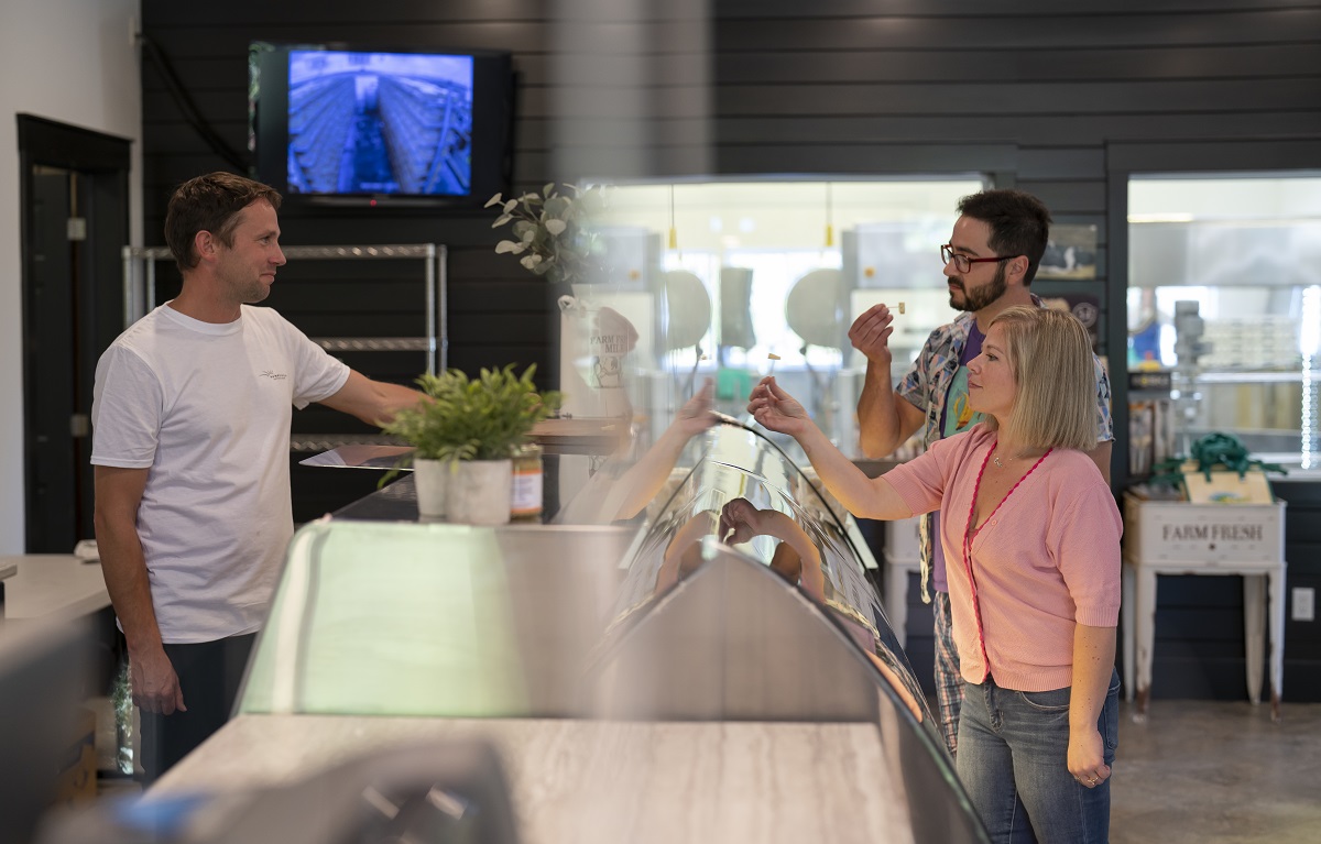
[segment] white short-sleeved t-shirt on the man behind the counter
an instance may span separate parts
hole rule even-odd
[[[269,308],[217,325],[156,308],[96,363],[98,466],[151,469],[137,509],[166,643],[256,630],[293,535],[289,423],[349,367]]]

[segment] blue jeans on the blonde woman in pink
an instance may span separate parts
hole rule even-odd
[[[959,719],[959,779],[996,844],[1110,840],[1110,778],[1095,789],[1069,773],[1070,689],[1016,692],[968,683]],[[1119,745],[1119,674],[1096,729],[1106,765]]]

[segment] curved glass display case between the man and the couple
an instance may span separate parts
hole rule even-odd
[[[893,840],[985,841],[844,511],[774,442],[736,420],[690,444],[691,468],[647,454],[602,465],[584,490],[597,526],[305,526],[230,726],[289,730],[292,720],[329,734],[325,717],[291,716],[339,716],[353,726],[336,734],[353,738],[375,729],[357,716],[404,715],[419,734],[448,720],[466,720],[464,734],[481,734],[480,719],[491,734],[524,730],[505,745],[522,753],[514,749],[544,748],[550,736],[637,725],[662,744],[613,758],[609,779],[620,782],[671,757],[719,757],[719,737],[740,725],[774,741],[848,725],[878,748],[876,777],[852,783],[859,818],[889,819]],[[629,514],[610,507],[634,470],[663,486],[641,531],[616,524]],[[593,507],[568,510],[585,516]],[[720,732],[688,730],[695,744],[675,746],[675,724]],[[834,753],[810,746],[814,766]],[[547,753],[511,769],[571,750]],[[824,766],[845,770],[848,761]],[[798,775],[761,771],[741,787],[760,791],[761,777]],[[514,811],[532,812],[519,800],[543,791],[520,790],[515,775]],[[658,799],[645,795],[649,804]]]

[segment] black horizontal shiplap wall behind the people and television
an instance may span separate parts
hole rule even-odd
[[[511,50],[520,74],[514,168],[522,186],[552,176],[546,85],[552,8],[551,0],[143,0],[143,28],[235,147],[246,140],[250,40]],[[1057,222],[1098,226],[1095,287],[1107,302],[1107,351],[1122,350],[1124,341],[1129,172],[1321,169],[1317,1],[712,0],[711,8],[719,173],[982,172],[997,185],[1032,190]],[[143,85],[145,222],[149,243],[160,243],[170,188],[223,162],[186,125],[149,66]],[[548,372],[550,296],[509,256],[491,252],[498,238],[487,221],[485,214],[283,218],[288,243],[449,244],[452,365],[535,361]],[[281,275],[288,284],[272,296],[295,322],[314,324],[309,332],[363,312],[402,325],[416,318],[412,300],[403,299],[407,272],[394,273],[388,295],[379,285],[330,287],[321,272],[309,267],[296,275],[289,267]],[[1118,375],[1123,357],[1111,357]],[[387,378],[392,371],[395,380],[417,369],[407,359],[375,363],[386,372],[367,361],[351,363]],[[1119,376],[1115,405],[1116,482],[1123,482],[1127,394]],[[300,424],[325,429],[312,420]],[[325,493],[324,474],[301,487],[295,477],[304,518],[345,503],[343,490]],[[1321,560],[1289,563],[1291,585],[1321,576]],[[1239,697],[1239,584],[1168,579],[1161,606],[1153,693]],[[929,617],[925,606],[911,608],[919,671],[930,659],[929,639],[925,651],[921,639],[930,635]],[[1321,667],[1316,623],[1291,623],[1288,639],[1285,697],[1299,699],[1293,689],[1321,699],[1306,680]]]

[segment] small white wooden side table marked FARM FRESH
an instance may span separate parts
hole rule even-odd
[[[1248,699],[1254,704],[1262,701],[1262,639],[1268,633],[1271,716],[1280,717],[1284,682],[1284,502],[1189,505],[1124,495],[1124,695],[1128,700],[1136,697],[1140,716],[1147,713],[1152,684],[1156,576],[1235,575],[1243,577]]]

